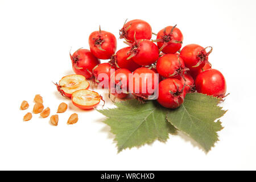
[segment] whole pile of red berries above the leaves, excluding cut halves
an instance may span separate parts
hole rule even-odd
[[[147,100],[153,94],[151,90],[158,90],[157,101],[168,108],[179,107],[190,92],[225,97],[225,78],[221,72],[212,69],[208,61],[212,47],[189,44],[181,49],[183,34],[176,26],[163,28],[156,40],[150,40],[150,24],[139,19],[125,23],[119,35],[128,47],[115,52],[117,39],[112,33],[101,28],[92,32],[90,51],[78,49],[71,55],[75,73],[93,78],[96,84],[108,78],[108,82],[113,81],[115,85],[111,93],[118,98],[132,93],[139,100]],[[100,64],[99,59],[109,62]],[[114,74],[111,69],[115,70]],[[102,74],[106,76],[100,76]],[[110,84],[102,86],[106,87]]]

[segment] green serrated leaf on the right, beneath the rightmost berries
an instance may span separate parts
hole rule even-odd
[[[220,120],[226,111],[217,106],[220,100],[200,93],[190,93],[177,109],[168,110],[167,121],[198,142],[206,152],[214,147],[220,131]]]

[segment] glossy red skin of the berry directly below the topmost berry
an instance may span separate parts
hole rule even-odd
[[[138,40],[139,46],[137,54],[133,56],[133,61],[139,65],[146,66],[155,63],[159,57],[158,46],[151,40]]]

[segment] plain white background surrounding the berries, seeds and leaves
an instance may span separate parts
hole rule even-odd
[[[0,1],[0,169],[256,169],[256,1]],[[222,106],[225,129],[205,154],[184,135],[170,136],[117,154],[113,135],[97,111],[76,109],[51,81],[72,72],[69,49],[88,48],[92,31],[113,32],[126,18],[143,19],[152,30],[177,24],[184,45],[213,46],[210,62],[225,76],[230,96]],[[153,37],[154,38],[154,37]],[[124,47],[118,40],[118,48]],[[59,126],[33,115],[35,94],[56,112]],[[30,108],[19,110],[27,100]],[[106,107],[112,104],[107,101]],[[79,122],[68,126],[72,113]]]

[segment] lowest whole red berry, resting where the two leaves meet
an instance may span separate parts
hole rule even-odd
[[[177,89],[174,81],[179,86]],[[159,96],[158,96],[158,103],[166,108],[175,109],[183,104],[183,101],[186,95],[185,90],[181,93],[181,96],[173,96],[171,92],[176,92],[177,90],[181,92],[183,89],[183,83],[176,78],[167,78],[159,83]],[[177,97],[177,103],[175,102],[175,97]],[[183,98],[182,98],[183,97]]]

